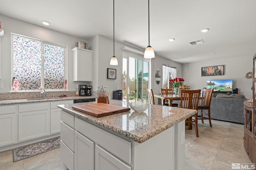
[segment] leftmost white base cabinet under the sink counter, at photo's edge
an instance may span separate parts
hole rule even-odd
[[[16,106],[0,106],[0,147],[15,143]]]

